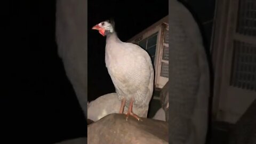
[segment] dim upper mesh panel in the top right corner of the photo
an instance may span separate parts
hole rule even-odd
[[[239,1],[237,33],[256,36],[256,1],[242,0]]]

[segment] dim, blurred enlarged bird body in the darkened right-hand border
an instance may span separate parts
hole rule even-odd
[[[169,5],[169,142],[204,144],[210,73],[202,35],[182,3],[171,0]]]

